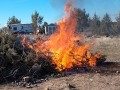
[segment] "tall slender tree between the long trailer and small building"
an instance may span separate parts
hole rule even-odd
[[[37,28],[41,27],[40,25],[42,24],[43,17],[39,15],[37,11],[32,14],[32,24],[34,27],[34,33],[37,34]]]

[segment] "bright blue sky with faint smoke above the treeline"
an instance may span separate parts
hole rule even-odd
[[[35,10],[44,17],[44,21],[54,23],[63,16],[66,0],[0,0],[0,27],[7,23],[9,17],[16,16],[22,23],[31,23]],[[67,0],[70,1],[70,0]],[[107,12],[112,20],[120,12],[120,0],[74,0],[75,6],[85,8],[92,17],[94,13],[101,18]]]

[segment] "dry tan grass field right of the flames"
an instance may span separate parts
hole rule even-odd
[[[94,42],[91,46],[93,52],[98,51],[106,55],[107,61],[120,62],[120,37],[89,38],[88,40]]]

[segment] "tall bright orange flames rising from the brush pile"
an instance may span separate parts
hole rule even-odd
[[[31,44],[24,37],[22,44],[27,44],[36,53],[50,51],[52,64],[55,64],[59,71],[74,66],[96,66],[96,60],[100,55],[92,55],[89,51],[90,45],[82,43],[83,37],[75,33],[77,17],[71,3],[66,5],[65,16],[57,24],[58,28],[49,40]]]

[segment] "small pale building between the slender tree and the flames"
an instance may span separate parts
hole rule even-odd
[[[56,24],[49,24],[45,27],[45,34],[46,35],[51,35],[55,32],[56,29],[57,29]]]

